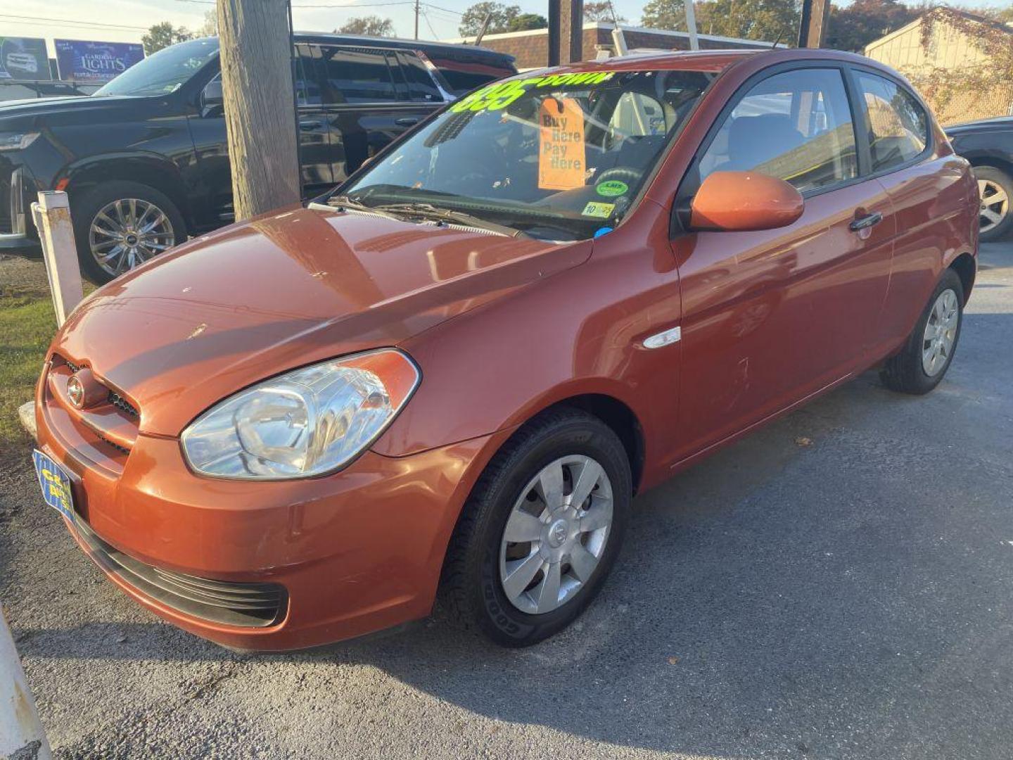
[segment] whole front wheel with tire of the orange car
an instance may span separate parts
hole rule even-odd
[[[539,415],[479,478],[448,548],[442,601],[497,643],[547,638],[598,594],[631,500],[612,429],[576,409]]]

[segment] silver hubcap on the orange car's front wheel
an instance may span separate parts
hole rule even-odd
[[[499,582],[529,614],[558,609],[591,580],[612,526],[612,483],[591,457],[545,466],[511,511],[499,547]]]

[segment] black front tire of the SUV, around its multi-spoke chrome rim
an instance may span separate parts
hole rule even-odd
[[[74,224],[74,239],[77,257],[81,262],[81,273],[95,285],[104,285],[115,277],[106,272],[91,252],[89,231],[99,211],[114,201],[138,199],[160,209],[172,226],[173,245],[186,239],[186,223],[176,205],[164,193],[141,182],[115,180],[101,182],[80,195],[71,195],[70,213]],[[124,270],[128,272],[129,270]],[[120,273],[123,274],[123,273]]]

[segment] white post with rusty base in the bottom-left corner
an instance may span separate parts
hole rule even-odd
[[[52,760],[21,661],[0,605],[0,757]]]

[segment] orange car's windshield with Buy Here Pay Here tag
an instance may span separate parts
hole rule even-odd
[[[544,239],[591,237],[630,210],[713,76],[602,70],[488,85],[340,187],[339,200],[462,212]]]

